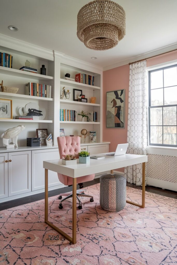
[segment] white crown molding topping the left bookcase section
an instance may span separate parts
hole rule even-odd
[[[15,39],[15,38],[3,35],[3,34],[0,34],[0,42],[1,42],[1,46],[3,47],[7,47],[12,50],[17,50],[19,52],[31,54],[31,55],[44,58],[47,60],[51,60],[51,61],[54,60],[53,51],[34,45],[32,43],[21,41],[19,39]]]

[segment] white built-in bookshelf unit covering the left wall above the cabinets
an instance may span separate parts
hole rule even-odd
[[[96,131],[97,142],[102,142],[102,70],[94,65],[83,61],[63,56],[56,51],[49,51],[26,43],[14,44],[4,39],[1,42],[0,51],[13,56],[12,68],[0,66],[0,82],[3,80],[4,86],[18,87],[16,94],[1,92],[1,99],[12,99],[13,119],[0,119],[0,135],[7,129],[18,125],[25,125],[25,130],[19,135],[19,147],[26,146],[27,137],[35,137],[36,129],[48,129],[48,133],[53,135],[53,144],[57,145],[57,137],[60,128],[64,129],[65,135],[81,135],[81,130]],[[30,67],[38,70],[36,73],[29,73],[19,70],[24,66],[25,61],[30,61]],[[46,76],[40,74],[42,64],[46,68]],[[70,73],[71,78],[75,74],[84,73],[94,76],[94,86],[77,83],[75,81],[63,79],[66,73]],[[51,98],[25,95],[25,83],[36,82],[51,85]],[[70,91],[69,99],[61,99],[63,87]],[[73,89],[82,90],[82,94],[87,98],[87,103],[73,100]],[[96,97],[96,103],[91,103],[91,97]],[[34,120],[15,120],[18,109],[32,103],[35,108],[45,110],[45,117]],[[76,121],[60,121],[60,109],[70,109],[76,111]],[[97,112],[97,122],[82,122],[81,116],[77,114],[81,111]],[[88,133],[89,135],[89,133]],[[86,142],[88,142],[88,137]],[[89,143],[88,143],[89,144]],[[2,139],[0,139],[2,146]]]

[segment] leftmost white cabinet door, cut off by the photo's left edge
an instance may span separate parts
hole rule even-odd
[[[0,199],[8,197],[8,153],[0,154]]]

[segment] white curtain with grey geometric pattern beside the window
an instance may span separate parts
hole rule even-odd
[[[127,153],[146,155],[147,148],[146,61],[130,65]],[[125,167],[129,183],[142,185],[142,164]]]

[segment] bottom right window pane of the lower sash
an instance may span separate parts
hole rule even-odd
[[[163,144],[176,145],[176,126],[163,127]]]

